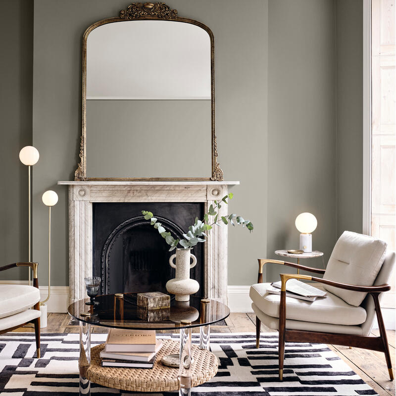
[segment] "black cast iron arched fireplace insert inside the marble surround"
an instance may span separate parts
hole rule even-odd
[[[162,292],[166,282],[175,277],[169,265],[169,246],[158,231],[142,216],[151,211],[174,238],[203,218],[203,203],[182,202],[99,202],[93,203],[93,275],[100,276],[101,294]],[[195,296],[203,297],[204,244],[192,253],[197,265],[191,278],[200,288]]]

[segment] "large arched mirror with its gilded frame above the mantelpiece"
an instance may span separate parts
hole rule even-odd
[[[75,180],[222,180],[213,34],[163,3],[136,3],[83,37]]]

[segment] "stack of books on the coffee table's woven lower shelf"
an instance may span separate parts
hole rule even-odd
[[[100,352],[103,367],[152,368],[162,341],[155,330],[110,329]]]

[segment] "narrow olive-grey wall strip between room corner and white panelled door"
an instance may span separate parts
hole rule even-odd
[[[362,232],[363,6],[336,0],[337,235]]]

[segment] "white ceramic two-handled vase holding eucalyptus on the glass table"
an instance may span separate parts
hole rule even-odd
[[[175,257],[176,264],[173,263]],[[191,264],[190,258],[193,259]],[[191,253],[191,249],[176,249],[176,254],[169,258],[169,264],[176,269],[176,277],[166,282],[166,290],[175,295],[176,301],[189,301],[190,295],[199,290],[199,283],[190,279],[190,269],[197,264],[197,257]]]

